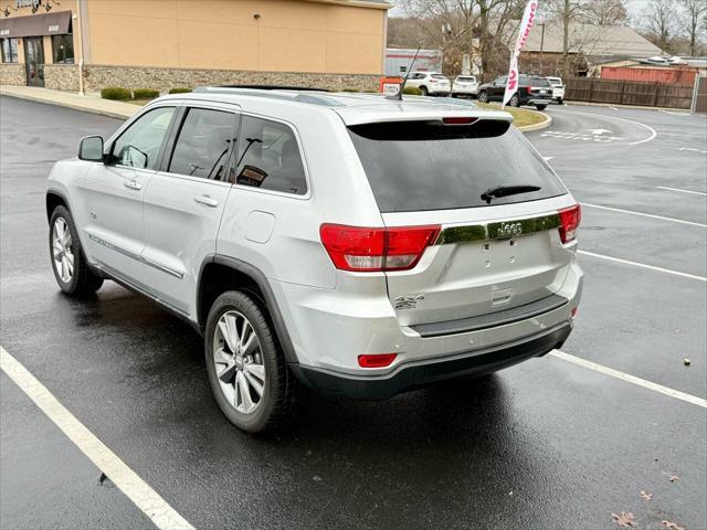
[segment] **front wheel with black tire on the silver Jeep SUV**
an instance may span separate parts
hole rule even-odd
[[[56,206],[49,224],[49,253],[54,278],[70,296],[83,297],[98,290],[103,278],[88,268],[74,220],[65,206]]]

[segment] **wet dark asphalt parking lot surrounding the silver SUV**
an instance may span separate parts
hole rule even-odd
[[[119,121],[2,97],[0,346],[196,528],[705,529],[707,119],[548,114],[527,137],[583,204],[562,352],[388,402],[315,395],[252,437],[191,328],[113,283],[56,287],[46,174]],[[2,528],[154,528],[4,371],[0,393]]]

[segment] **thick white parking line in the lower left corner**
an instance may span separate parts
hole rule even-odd
[[[68,439],[151,519],[157,528],[193,530],[194,527],[94,436],[52,395],[46,386],[2,347],[0,347],[0,368],[64,432]]]

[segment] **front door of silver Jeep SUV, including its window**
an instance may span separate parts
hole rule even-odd
[[[175,107],[141,115],[108,146],[108,161],[94,165],[81,184],[89,259],[141,288],[143,198],[159,167],[173,115]]]

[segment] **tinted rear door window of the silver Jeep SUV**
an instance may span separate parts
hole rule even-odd
[[[190,108],[175,144],[168,171],[220,179],[233,141],[234,123],[232,113]]]

